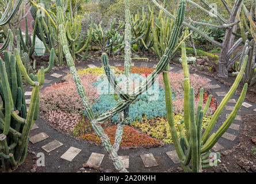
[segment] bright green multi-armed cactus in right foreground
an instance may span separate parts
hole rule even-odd
[[[205,129],[205,132],[202,135],[202,117],[207,112],[209,103],[207,103],[207,105],[205,105],[205,108],[202,109],[202,97],[204,89],[201,89],[198,108],[196,114],[194,113],[194,90],[193,87],[190,87],[189,85],[189,68],[186,62],[186,48],[185,43],[182,43],[182,66],[184,71],[184,124],[187,133],[186,135],[181,136],[180,141],[178,140],[177,132],[174,125],[173,104],[169,75],[167,71],[163,71],[163,80],[165,82],[167,121],[170,125],[171,137],[174,141],[175,150],[185,172],[198,173],[202,171],[202,169],[210,168],[220,163],[220,154],[218,152],[216,154],[212,153],[210,150],[217,143],[223,133],[227,131],[227,129],[232,124],[232,121],[235,119],[236,114],[238,114],[238,111],[242,106],[246,95],[248,87],[247,83],[244,85],[238,102],[236,103],[235,108],[230,116],[228,116],[227,120],[221,125],[216,133],[213,133],[211,136],[210,134],[217,119],[220,116],[220,113],[223,111],[224,106],[228,103],[236,88],[238,87],[241,79],[243,78],[243,73],[246,68],[247,60],[248,56],[244,58],[241,70],[236,77],[234,84],[232,85],[230,91],[228,91],[226,97],[224,97],[224,99],[221,101],[216,112],[213,114],[207,129]],[[211,98],[208,98],[208,101],[209,99],[211,100]]]

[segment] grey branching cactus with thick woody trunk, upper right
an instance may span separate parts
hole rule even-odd
[[[200,0],[200,1],[206,8],[198,5],[194,1],[188,0],[188,3],[191,3],[193,6],[204,11],[205,13],[212,14],[210,11],[212,9],[210,3],[208,3],[205,0]],[[152,2],[154,2],[155,5],[157,7],[159,7],[159,9],[163,10],[163,12],[165,12],[167,14],[167,16],[169,16],[171,19],[174,18],[174,16],[169,11],[167,11],[164,7],[159,5],[158,2],[156,2],[155,0],[152,0]],[[236,53],[236,55],[234,57],[232,57],[232,59],[230,59],[231,55],[234,53],[235,49],[238,48],[240,43],[242,43],[242,39],[238,39],[236,42],[234,41],[235,36],[233,35],[233,33],[236,32],[236,25],[238,24],[238,21],[236,21],[236,15],[239,12],[239,7],[240,7],[240,5],[242,5],[243,0],[236,0],[234,3],[234,6],[232,7],[232,10],[227,5],[226,1],[221,1],[221,2],[223,2],[224,6],[226,7],[226,9],[228,11],[228,14],[230,14],[230,18],[228,20],[226,20],[225,18],[223,18],[221,16],[220,13],[215,12],[214,17],[217,19],[217,21],[221,22],[222,25],[213,25],[213,24],[208,24],[205,22],[196,22],[196,21],[192,21],[192,22],[195,24],[198,24],[198,25],[205,25],[205,26],[211,26],[213,28],[226,29],[226,34],[224,36],[224,40],[222,43],[219,43],[218,41],[211,39],[211,37],[209,37],[207,34],[202,32],[201,30],[197,29],[193,25],[189,24],[188,22],[183,22],[182,24],[185,26],[188,26],[188,28],[190,30],[192,30],[192,32],[196,32],[200,36],[204,37],[204,39],[206,39],[210,43],[212,43],[218,47],[221,47],[220,59],[219,59],[219,63],[218,63],[218,75],[220,77],[227,77],[228,70],[232,67],[232,64],[234,64],[234,62],[235,62],[234,60],[239,59],[239,56],[240,56],[240,52],[239,52],[239,53]],[[207,9],[209,9],[209,10],[207,10]],[[239,34],[236,34],[236,35],[239,35]]]

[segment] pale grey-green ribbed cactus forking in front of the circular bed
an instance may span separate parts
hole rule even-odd
[[[128,0],[127,2],[128,3]],[[110,85],[114,86],[114,89],[116,90],[116,93],[120,94],[121,101],[114,106],[113,109],[109,110],[108,112],[101,114],[100,116],[96,117],[95,114],[93,113],[93,110],[91,108],[91,104],[89,103],[86,94],[85,94],[85,89],[82,86],[81,78],[77,74],[77,70],[75,68],[74,60],[72,59],[70,50],[68,49],[68,41],[66,37],[66,32],[65,32],[65,26],[64,26],[64,17],[63,17],[63,10],[62,10],[62,3],[60,0],[56,0],[56,5],[57,5],[57,22],[58,22],[58,30],[59,30],[59,39],[60,43],[62,44],[63,47],[63,52],[64,55],[66,56],[67,64],[70,67],[70,72],[72,74],[72,77],[74,79],[74,82],[77,86],[77,90],[79,93],[79,96],[82,98],[83,106],[85,107],[85,112],[87,118],[91,121],[91,125],[96,133],[101,139],[102,145],[105,147],[105,150],[108,152],[110,159],[113,160],[113,164],[115,168],[121,172],[127,172],[127,170],[123,166],[123,162],[121,162],[119,156],[117,155],[117,150],[118,147],[117,145],[120,144],[120,138],[121,133],[122,133],[122,125],[118,126],[117,129],[117,137],[115,139],[115,143],[112,146],[112,144],[109,141],[108,136],[104,133],[104,129],[101,127],[101,123],[105,122],[114,114],[121,113],[120,114],[120,124],[127,124],[128,122],[125,121],[125,118],[123,118],[123,111],[128,108],[128,106],[135,101],[135,99],[142,94],[144,91],[149,89],[155,82],[157,75],[160,74],[163,70],[166,69],[166,67],[169,64],[169,58],[173,50],[175,49],[175,46],[178,41],[178,35],[181,30],[181,24],[184,21],[185,17],[185,1],[181,0],[179,3],[178,7],[178,13],[177,17],[175,18],[175,24],[174,24],[174,29],[173,29],[173,34],[170,37],[169,40],[169,47],[166,48],[165,54],[162,56],[160,62],[156,66],[156,69],[151,73],[148,78],[142,82],[142,84],[139,87],[136,87],[133,91],[129,91],[128,93],[125,93],[123,89],[121,89],[117,85],[116,78],[114,76],[114,72],[110,70],[110,66],[108,64],[108,59],[105,54],[102,55],[102,62],[104,63],[104,68],[106,75],[108,76]],[[128,5],[128,4],[126,4]],[[130,47],[130,45],[128,46]],[[127,113],[124,111],[124,113]],[[122,119],[124,121],[122,121]]]

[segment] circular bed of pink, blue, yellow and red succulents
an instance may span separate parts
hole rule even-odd
[[[121,87],[124,86],[124,68],[112,67]],[[145,80],[154,68],[132,67],[130,88],[139,85]],[[105,76],[104,68],[87,68],[78,70],[82,84],[85,87],[87,98],[91,102],[95,114],[102,114],[112,109],[121,98],[114,93]],[[183,74],[169,72],[170,84],[173,93],[174,121],[175,124],[183,119]],[[195,104],[199,98],[201,88],[204,88],[204,105],[209,95],[209,83],[206,78],[190,75],[190,86],[194,87]],[[82,140],[93,141],[101,144],[100,138],[95,135],[89,120],[82,107],[75,83],[70,74],[64,76],[64,80],[50,87],[46,87],[40,94],[40,110],[43,118],[60,131],[70,133]],[[202,129],[206,128],[211,115],[216,110],[216,101],[212,101],[205,115]],[[108,134],[111,143],[117,129],[118,114],[104,122],[102,127]],[[141,94],[129,107],[129,118],[131,126],[125,125],[123,139],[120,147],[158,147],[163,144],[173,143],[171,140],[169,124],[166,120],[165,89],[162,74],[158,76],[155,84],[146,92]],[[179,130],[177,128],[178,136]]]

